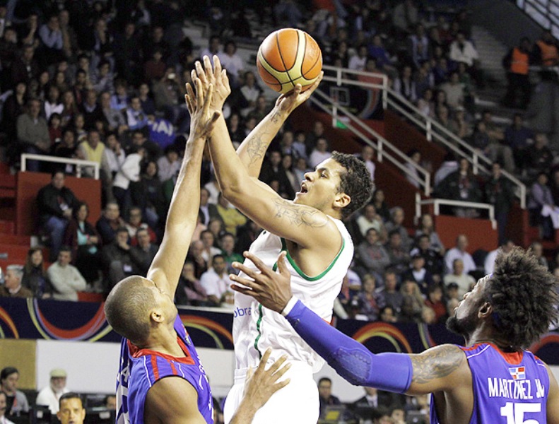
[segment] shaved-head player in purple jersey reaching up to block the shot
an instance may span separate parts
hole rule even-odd
[[[200,168],[206,136],[218,119],[210,111],[213,86],[187,85],[192,117],[184,159],[167,216],[165,235],[147,278],[130,276],[111,290],[105,314],[123,336],[117,377],[117,423],[213,423],[213,400],[206,372],[184,329],[173,297],[196,226]],[[288,365],[263,363],[250,380],[233,423],[252,421],[269,396],[288,384],[278,382]]]

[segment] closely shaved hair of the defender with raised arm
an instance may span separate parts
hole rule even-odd
[[[105,302],[107,322],[123,337],[140,345],[150,332],[148,308],[155,305],[153,292],[141,276],[129,276],[112,288]]]

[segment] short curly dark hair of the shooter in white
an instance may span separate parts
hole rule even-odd
[[[354,155],[334,151],[332,159],[346,168],[346,172],[340,175],[339,187],[339,192],[351,197],[348,206],[341,210],[341,218],[345,219],[369,201],[372,194],[371,175],[365,167],[365,163]]]

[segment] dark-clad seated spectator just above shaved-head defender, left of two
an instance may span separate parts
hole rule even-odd
[[[101,250],[102,269],[105,273],[105,293],[123,278],[139,273],[138,267],[130,254],[131,245],[128,242],[128,230],[120,227],[110,245]]]

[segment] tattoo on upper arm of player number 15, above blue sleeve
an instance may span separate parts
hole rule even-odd
[[[457,351],[455,346],[440,346],[428,354],[412,355],[412,382],[427,384],[434,379],[447,377],[457,370],[462,361],[466,360],[464,353]]]

